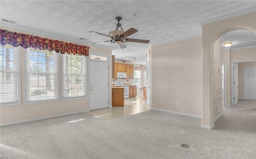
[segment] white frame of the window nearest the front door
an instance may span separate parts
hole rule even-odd
[[[64,92],[63,91],[64,90],[64,67],[63,67],[63,65],[64,65],[64,56],[65,55],[66,55],[66,53],[65,54],[61,54],[61,66],[62,66],[61,67],[62,68],[62,70],[61,70],[61,72],[62,72],[62,77],[61,77],[61,100],[76,100],[76,99],[86,99],[86,98],[88,98],[88,93],[87,93],[88,92],[87,91],[87,88],[88,88],[88,83],[87,83],[88,82],[88,80],[87,80],[88,75],[87,75],[87,73],[88,73],[88,57],[89,57],[89,55],[84,57],[85,58],[85,64],[84,64],[84,66],[85,66],[85,84],[84,84],[84,86],[85,86],[85,96],[72,96],[72,97],[65,97],[64,98],[64,95],[63,95],[63,92]]]

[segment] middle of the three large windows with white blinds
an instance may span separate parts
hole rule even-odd
[[[57,53],[28,48],[26,102],[58,99]]]

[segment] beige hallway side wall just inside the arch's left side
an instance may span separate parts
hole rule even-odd
[[[211,70],[211,113],[214,119],[222,113],[222,40],[218,39],[213,47]]]

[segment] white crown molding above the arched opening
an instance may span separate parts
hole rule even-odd
[[[206,24],[218,22],[220,20],[226,20],[226,19],[229,19],[229,18],[237,17],[237,16],[242,16],[244,14],[249,14],[249,13],[252,13],[252,12],[256,12],[256,8],[255,7],[249,8],[248,10],[243,10],[243,11],[240,11],[240,12],[235,12],[233,14],[228,14],[226,16],[221,16],[221,17],[217,17],[217,18],[212,18],[210,20],[205,20],[205,21],[199,22],[199,24],[201,26],[203,26],[203,25],[206,25]]]

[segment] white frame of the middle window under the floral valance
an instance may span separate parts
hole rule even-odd
[[[30,49],[30,48],[28,48],[28,49]],[[34,48],[33,48],[34,49]],[[23,104],[34,104],[34,103],[44,103],[44,102],[56,102],[56,101],[59,101],[59,92],[60,92],[60,87],[59,87],[59,77],[60,77],[60,71],[59,71],[59,53],[56,53],[54,50],[54,52],[57,54],[56,55],[56,62],[57,62],[57,64],[56,64],[56,70],[57,70],[57,75],[56,75],[56,77],[57,77],[57,84],[56,84],[56,89],[57,89],[57,94],[56,94],[56,96],[57,96],[57,98],[56,99],[46,99],[46,100],[35,100],[35,101],[27,101],[27,49],[24,49],[25,51],[25,53],[24,53],[24,55],[23,55],[23,58],[24,58],[24,65],[23,65],[23,68],[24,68],[24,82],[23,82],[23,84],[24,84],[24,88],[23,88],[23,93],[24,93],[24,98],[23,98],[23,100],[24,100],[24,102],[23,102]],[[43,50],[43,51],[45,51],[45,50]],[[46,50],[46,51],[48,51],[48,50]],[[49,51],[49,52],[52,52],[52,51]]]

